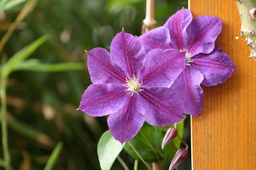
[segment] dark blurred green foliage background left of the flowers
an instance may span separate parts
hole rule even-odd
[[[11,1],[16,4],[10,6]],[[0,11],[4,10],[0,14],[0,39],[26,3],[24,0],[10,0],[9,7],[4,7],[6,2],[0,0]],[[187,1],[156,0],[157,26],[162,26],[183,6],[187,8]],[[88,70],[81,71],[80,63],[84,63],[86,68],[84,50],[90,51],[95,47],[109,50],[113,37],[122,27],[125,32],[139,36],[145,11],[146,0],[37,2],[35,9],[18,25],[0,52],[0,61],[5,63],[29,43],[45,34],[50,36],[24,61],[26,63],[17,66],[19,71],[11,73],[8,79],[7,121],[14,169],[44,169],[58,141],[62,141],[54,169],[100,170],[97,144],[108,126],[106,117],[91,117],[76,110],[84,90],[91,84]],[[65,65],[67,62],[75,65]],[[58,72],[74,68],[80,68],[76,69],[80,71]],[[183,138],[190,143],[188,118]],[[2,151],[3,148],[0,149],[0,166],[3,165]],[[124,151],[120,156],[132,169],[133,159]],[[189,169],[190,165],[188,159],[179,169]],[[123,167],[115,161],[112,169]],[[145,166],[139,162],[138,169],[143,170]]]

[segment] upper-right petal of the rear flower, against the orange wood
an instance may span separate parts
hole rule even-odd
[[[192,20],[187,28],[188,52],[192,56],[209,54],[214,48],[214,41],[222,29],[222,20],[214,16],[200,16]]]

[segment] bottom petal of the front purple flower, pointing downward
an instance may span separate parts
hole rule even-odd
[[[124,106],[108,117],[110,133],[122,144],[135,137],[145,120],[144,108],[138,101],[138,94],[128,96]]]

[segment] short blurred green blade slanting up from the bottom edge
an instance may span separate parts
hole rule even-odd
[[[62,142],[59,142],[57,144],[57,146],[54,148],[49,160],[47,161],[46,166],[44,167],[44,170],[52,170],[53,169],[56,161],[59,158],[62,146],[63,146]]]

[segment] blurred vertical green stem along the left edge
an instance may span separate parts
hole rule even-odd
[[[5,169],[10,170],[10,153],[8,149],[8,133],[7,133],[7,120],[6,120],[6,78],[1,78],[1,125],[2,125],[2,146],[4,152]]]

